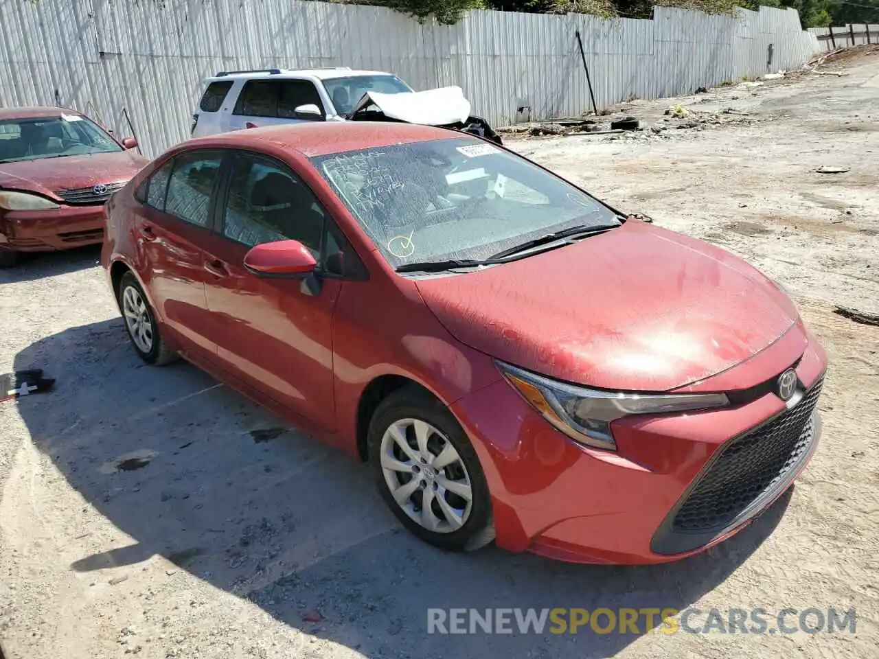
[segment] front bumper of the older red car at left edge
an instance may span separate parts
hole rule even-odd
[[[6,211],[0,216],[0,249],[69,250],[104,239],[104,206],[61,206],[45,211]]]

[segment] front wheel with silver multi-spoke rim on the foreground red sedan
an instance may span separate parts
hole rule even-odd
[[[494,540],[489,487],[476,451],[461,424],[436,398],[420,387],[397,389],[375,410],[367,442],[381,497],[410,532],[458,552]]]

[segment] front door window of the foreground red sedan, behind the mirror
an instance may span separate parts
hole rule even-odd
[[[248,247],[298,240],[318,259],[323,225],[323,208],[290,170],[258,156],[236,156],[223,235]]]

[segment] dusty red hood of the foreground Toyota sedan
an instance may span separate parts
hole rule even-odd
[[[464,344],[536,373],[635,391],[751,358],[798,317],[738,257],[641,221],[483,271],[418,279]]]

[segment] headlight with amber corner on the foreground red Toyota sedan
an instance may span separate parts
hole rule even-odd
[[[611,422],[634,414],[661,414],[728,405],[725,394],[629,394],[576,387],[497,362],[519,394],[546,420],[581,444],[616,450]]]

